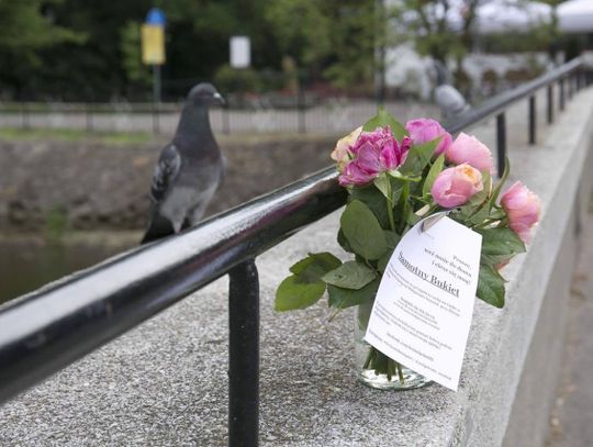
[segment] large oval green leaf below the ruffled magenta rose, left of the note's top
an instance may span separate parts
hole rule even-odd
[[[340,224],[350,247],[365,259],[379,259],[387,252],[383,228],[362,202],[350,202],[342,214]]]

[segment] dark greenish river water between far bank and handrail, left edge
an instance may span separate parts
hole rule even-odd
[[[0,304],[47,282],[93,266],[137,245],[136,235],[77,235],[49,243],[42,236],[0,239]]]

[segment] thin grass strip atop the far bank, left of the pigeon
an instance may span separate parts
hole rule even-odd
[[[78,128],[0,128],[3,141],[57,139],[64,142],[97,141],[109,144],[147,143],[153,139],[148,132],[88,132]]]

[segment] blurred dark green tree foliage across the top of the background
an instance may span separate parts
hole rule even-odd
[[[463,2],[460,27],[445,20]],[[457,59],[472,45],[475,9],[484,0],[0,0],[0,93],[13,99],[105,101],[150,99],[139,26],[152,7],[167,15],[164,98],[198,81],[235,79],[228,38],[248,35],[251,65],[287,74],[284,87],[329,81],[366,91],[381,71],[378,48],[412,40],[435,59]],[[560,0],[546,0],[558,3]],[[412,13],[411,13],[412,11]],[[541,29],[541,40],[557,31]],[[250,75],[249,75],[250,76]],[[267,75],[266,75],[267,76]],[[277,79],[279,76],[268,76]],[[227,82],[232,85],[233,82]]]

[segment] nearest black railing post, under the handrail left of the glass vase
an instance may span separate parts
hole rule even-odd
[[[255,260],[230,271],[228,446],[256,447],[259,432],[259,280]]]

